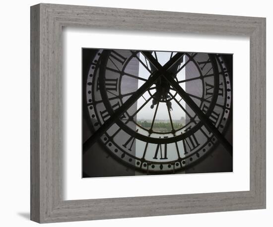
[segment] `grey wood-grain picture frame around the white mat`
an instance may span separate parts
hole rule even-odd
[[[31,6],[30,17],[31,220],[52,223],[266,208],[266,18],[45,3]],[[64,200],[64,26],[250,37],[250,190]]]

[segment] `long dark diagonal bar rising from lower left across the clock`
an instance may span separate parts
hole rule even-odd
[[[172,57],[164,66],[161,66],[160,70],[154,71],[149,79],[139,88],[136,92],[115,112],[109,113],[111,116],[100,126],[83,144],[83,152],[86,152],[103,134],[104,132],[111,127],[119,117],[127,111],[136,100],[152,86],[161,76],[165,73],[170,67],[172,67],[181,57],[183,53],[177,53]]]

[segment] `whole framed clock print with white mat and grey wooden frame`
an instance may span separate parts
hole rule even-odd
[[[257,17],[31,6],[31,220],[265,208],[265,33]]]

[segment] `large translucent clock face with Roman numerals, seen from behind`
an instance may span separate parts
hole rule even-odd
[[[83,159],[96,143],[139,174],[186,173],[215,150],[232,166],[232,55],[87,51]]]

